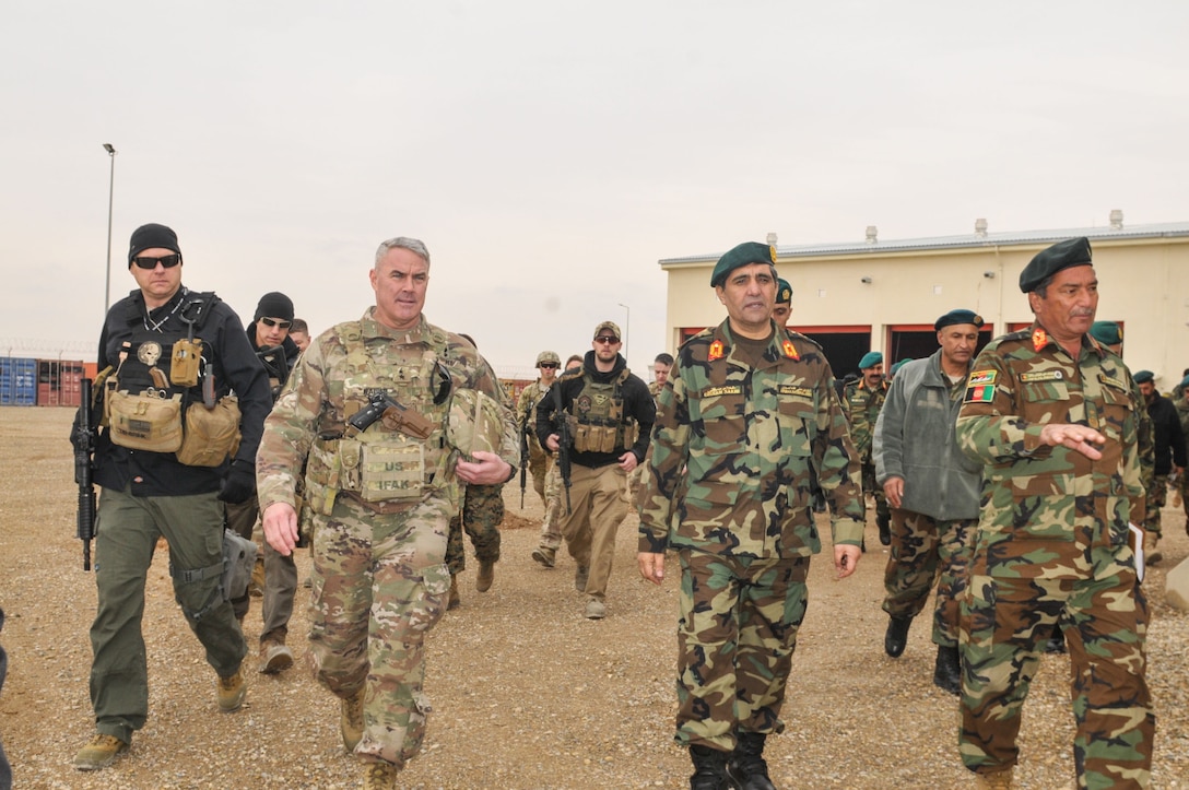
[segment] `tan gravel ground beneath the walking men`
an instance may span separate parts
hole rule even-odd
[[[90,645],[95,587],[74,539],[65,409],[0,409],[0,607],[8,680],[0,739],[17,788],[351,788],[359,767],[342,753],[336,701],[301,669],[249,666],[249,695],[220,714],[214,672],[174,603],[166,561],[150,571],[144,632],[151,699],[147,726],[113,767],[80,773],[90,737]],[[427,693],[434,703],[408,788],[681,788],[688,758],[672,745],[677,593],[635,571],[636,519],[619,532],[609,617],[583,618],[568,556],[553,570],[529,558],[540,500],[505,489],[504,560],[489,593],[463,581],[463,606],[430,634]],[[1184,517],[1165,511],[1165,561],[1150,571],[1149,680],[1158,734],[1153,788],[1189,788],[1189,615],[1164,605],[1164,570],[1189,555]],[[935,650],[918,621],[905,655],[883,655],[880,611],[886,550],[868,529],[851,579],[824,560],[810,574],[811,605],[789,680],[788,729],[769,741],[775,784],[818,788],[969,788],[955,745],[955,697],[932,683]],[[164,552],[162,552],[164,554]],[[473,561],[472,565],[473,565]],[[298,554],[304,576],[308,556]],[[301,592],[298,593],[301,595]],[[254,647],[259,599],[247,618]],[[304,652],[306,612],[290,644]],[[1025,708],[1023,788],[1071,786],[1069,662],[1045,657]]]

